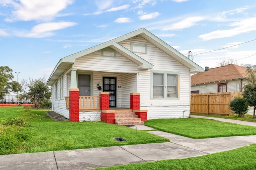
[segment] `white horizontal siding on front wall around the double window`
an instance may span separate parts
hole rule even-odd
[[[139,70],[138,92],[140,109],[148,110],[148,119],[188,117],[190,110],[190,73],[188,68],[158,49],[140,36],[128,39],[120,45],[130,50],[130,44],[147,45],[147,54],[136,53],[142,59],[154,65],[152,70],[180,73],[179,99],[151,99],[150,70]]]

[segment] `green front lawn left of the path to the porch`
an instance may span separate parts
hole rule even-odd
[[[168,142],[145,131],[137,131],[126,126],[104,122],[54,121],[44,110],[22,109],[22,107],[0,107],[0,120],[8,117],[25,117],[28,126],[23,127],[29,140],[23,142],[17,153],[45,152],[52,150],[87,149],[118,145]],[[12,113],[14,115],[12,115]],[[124,142],[114,138],[122,137]],[[15,152],[11,152],[15,153]]]

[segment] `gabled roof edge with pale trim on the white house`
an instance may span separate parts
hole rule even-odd
[[[134,63],[138,64],[139,69],[153,68],[153,65],[151,63],[142,59],[141,57],[139,57],[132,51],[124,48],[122,45],[118,44],[121,41],[130,39],[130,38],[138,36],[138,35],[143,37],[144,39],[146,39],[147,41],[149,41],[150,43],[152,43],[153,45],[155,45],[162,51],[164,51],[166,54],[168,54],[171,57],[173,57],[174,59],[176,59],[176,61],[182,63],[184,66],[189,68],[191,73],[203,71],[203,68],[200,67],[198,64],[194,63],[193,61],[191,61],[190,59],[188,59],[187,57],[182,55],[176,49],[172,48],[170,45],[168,45],[167,43],[165,43],[164,41],[162,41],[161,39],[159,39],[158,37],[156,37],[149,31],[147,31],[145,28],[141,28],[141,29],[138,29],[131,33],[128,33],[128,34],[122,35],[120,37],[117,37],[115,39],[112,39],[110,41],[107,41],[105,43],[102,43],[100,45],[96,45],[96,46],[86,49],[84,51],[80,51],[78,53],[75,53],[75,54],[72,54],[72,55],[69,55],[67,57],[60,59],[60,61],[55,66],[52,74],[50,75],[50,77],[47,81],[47,85],[48,86],[52,85],[64,73],[64,71],[66,69],[68,69],[72,64],[74,64],[76,62],[76,59],[83,57],[85,55],[88,55],[90,53],[93,53],[95,51],[98,51],[100,49],[104,49],[106,47],[110,47],[110,48],[114,49],[116,52],[118,52],[121,55],[123,55],[124,57],[130,59]]]

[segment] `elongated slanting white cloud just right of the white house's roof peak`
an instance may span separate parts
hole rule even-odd
[[[196,25],[196,22],[202,21],[204,19],[205,19],[204,17],[189,17],[189,18],[186,18],[185,20],[182,20],[180,22],[170,25],[169,27],[163,28],[162,30],[168,31],[168,30],[180,30],[184,28],[189,28]]]

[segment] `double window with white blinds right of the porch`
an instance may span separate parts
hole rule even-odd
[[[152,98],[179,98],[179,75],[153,72]]]

